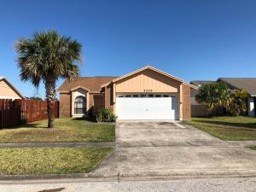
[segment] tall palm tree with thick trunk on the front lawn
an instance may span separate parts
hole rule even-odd
[[[79,42],[55,31],[35,32],[32,38],[20,38],[15,44],[20,79],[37,88],[44,83],[49,128],[54,127],[55,83],[79,76],[81,49]]]

